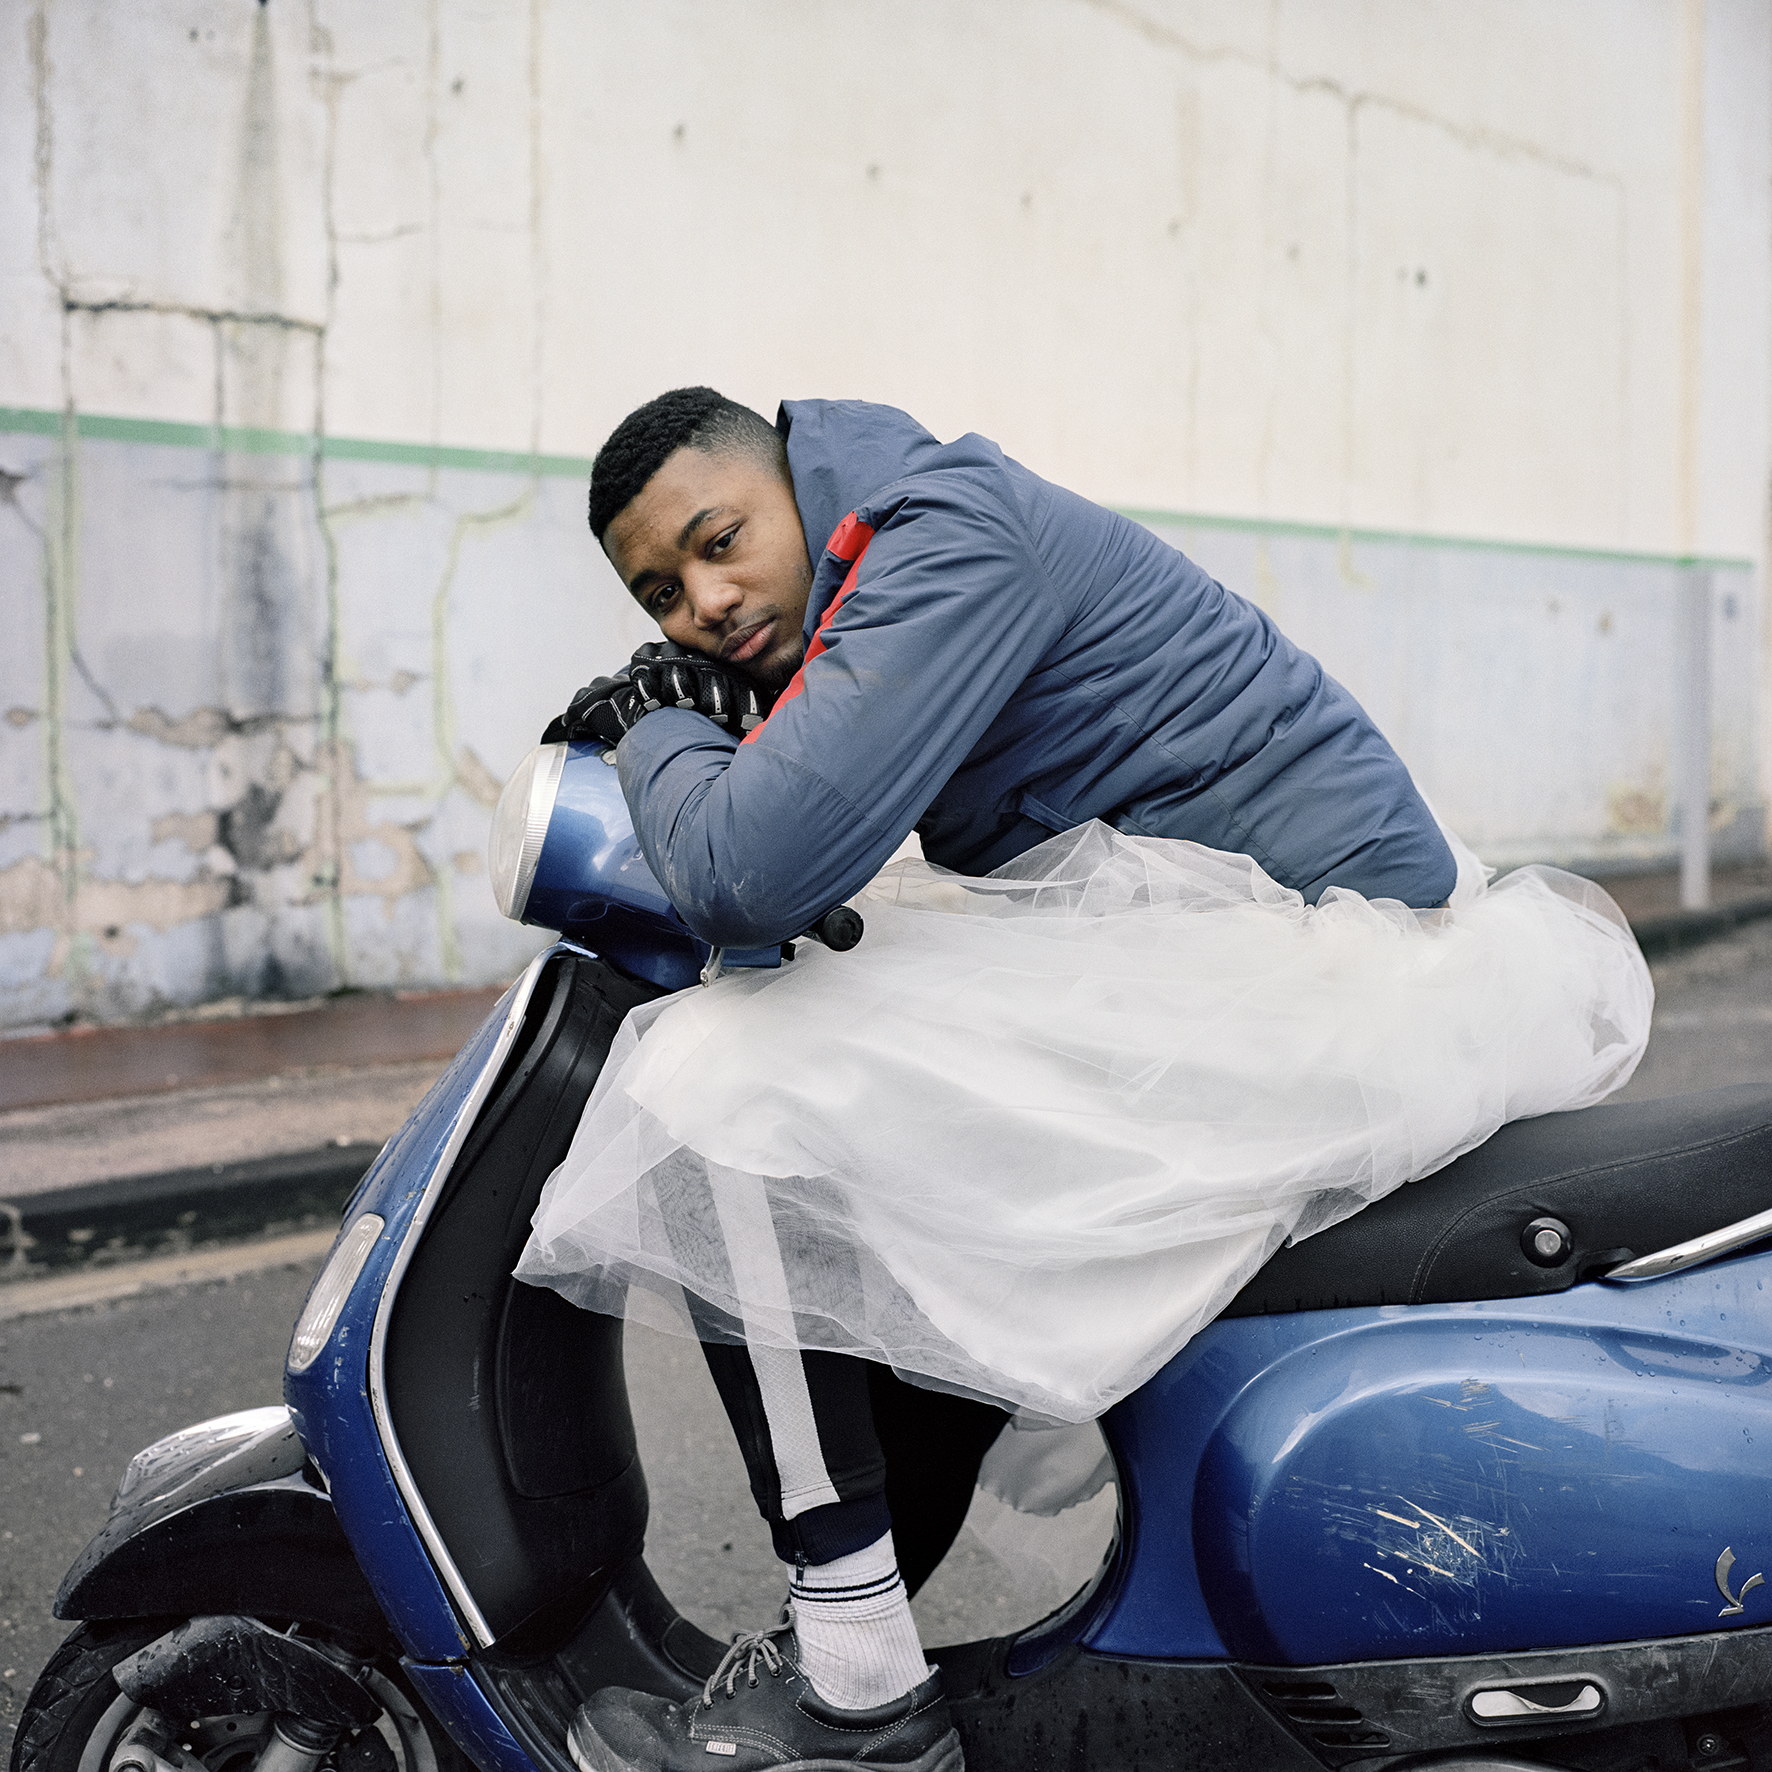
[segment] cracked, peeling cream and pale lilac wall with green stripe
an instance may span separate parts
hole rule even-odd
[[[1763,843],[1760,0],[21,0],[0,167],[7,1024],[507,973],[496,783],[643,633],[583,457],[686,381],[1154,514],[1497,861],[1671,854],[1719,560]]]

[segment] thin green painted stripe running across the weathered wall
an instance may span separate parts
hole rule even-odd
[[[0,406],[0,436],[60,436],[62,413],[32,406]],[[103,443],[161,443],[177,448],[225,450],[237,455],[314,455],[324,461],[383,461],[402,468],[457,468],[470,473],[590,475],[588,455],[526,455],[503,448],[452,448],[443,443],[383,443],[376,438],[314,436],[303,431],[257,431],[245,425],[184,425],[167,418],[106,418],[76,413],[74,431]],[[1286,523],[1276,517],[1223,517],[1200,510],[1141,510],[1116,505],[1138,523],[1184,530],[1233,530],[1246,535],[1297,535],[1310,540],[1389,542],[1405,548],[1458,548],[1480,553],[1550,555],[1563,560],[1613,560],[1627,565],[1724,567],[1753,571],[1751,560],[1712,555],[1625,553],[1607,548],[1559,548],[1549,542],[1485,540],[1469,535],[1416,535],[1407,530],[1336,528],[1333,523]]]

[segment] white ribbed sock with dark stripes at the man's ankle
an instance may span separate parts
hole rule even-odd
[[[789,1582],[799,1666],[838,1710],[872,1710],[929,1678],[891,1533]]]

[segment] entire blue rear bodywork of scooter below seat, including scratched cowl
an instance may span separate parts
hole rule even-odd
[[[1090,1646],[1310,1666],[1772,1621],[1742,1588],[1772,1568],[1768,1279],[1212,1325],[1109,1418],[1127,1554]]]

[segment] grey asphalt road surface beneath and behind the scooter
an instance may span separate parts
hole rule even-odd
[[[1655,966],[1650,1053],[1623,1092],[1675,1095],[1772,1083],[1772,921]],[[289,1324],[310,1269],[0,1324],[0,1740],[64,1627],[50,1616],[62,1570],[105,1519],[129,1457],[191,1421],[276,1402]],[[649,1559],[703,1628],[767,1618],[781,1570],[700,1354],[633,1331],[629,1386],[654,1492]],[[991,1636],[1038,1616],[1053,1568],[1088,1565],[1111,1501],[1088,1519],[1024,1535],[999,1561],[966,1531],[923,1595],[927,1641]],[[1084,1510],[1077,1510],[1084,1513]],[[1001,1536],[992,1538],[1003,1549]]]

